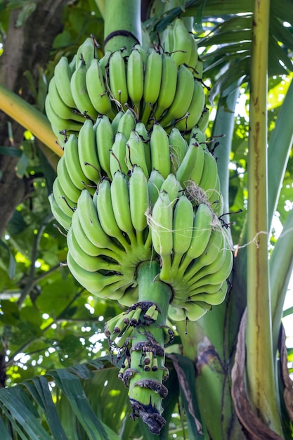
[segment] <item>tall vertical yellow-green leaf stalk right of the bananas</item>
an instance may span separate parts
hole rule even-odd
[[[249,115],[247,392],[254,411],[280,434],[268,278],[267,66],[269,0],[254,2]]]

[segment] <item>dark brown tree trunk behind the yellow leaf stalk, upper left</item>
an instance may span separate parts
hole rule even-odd
[[[22,98],[34,103],[27,79],[23,75],[29,70],[37,84],[39,68],[48,63],[53,40],[62,30],[62,12],[66,0],[43,0],[22,27],[15,27],[21,9],[11,11],[4,53],[0,58],[0,82]],[[0,145],[11,145],[8,138],[8,122],[11,122],[13,146],[19,148],[23,139],[23,128],[0,112]],[[32,191],[27,179],[20,179],[15,166],[18,158],[0,155],[0,237],[15,208]]]

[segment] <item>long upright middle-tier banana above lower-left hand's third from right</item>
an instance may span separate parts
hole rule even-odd
[[[100,123],[96,129],[96,143],[98,152],[98,161],[100,162],[100,168],[106,176],[110,179],[112,174],[110,171],[110,150],[114,141],[114,133],[112,124],[108,116],[100,118]]]

